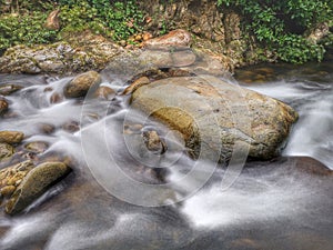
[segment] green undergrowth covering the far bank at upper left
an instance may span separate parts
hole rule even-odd
[[[0,0],[0,54],[11,46],[50,43],[87,29],[115,41],[127,40],[141,31],[143,22],[143,12],[130,0]],[[60,30],[44,27],[54,9],[60,9]]]

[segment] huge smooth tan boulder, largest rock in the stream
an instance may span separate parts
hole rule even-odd
[[[132,93],[131,107],[181,132],[194,158],[220,162],[231,159],[238,142],[249,157],[278,156],[297,119],[279,100],[208,76],[143,84]]]

